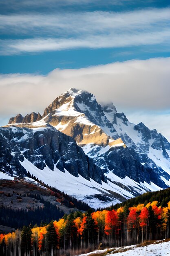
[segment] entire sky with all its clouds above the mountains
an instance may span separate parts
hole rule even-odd
[[[169,57],[169,0],[1,1],[0,125],[77,86],[168,136]]]

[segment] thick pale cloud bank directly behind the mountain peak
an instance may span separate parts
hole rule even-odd
[[[71,87],[95,94],[97,101],[113,101],[136,124],[143,121],[170,140],[170,58],[152,58],[99,65],[78,70],[55,69],[39,74],[0,75],[1,125],[19,112],[43,113],[57,96]],[[153,110],[152,112],[150,112]],[[161,112],[160,114],[160,110]]]

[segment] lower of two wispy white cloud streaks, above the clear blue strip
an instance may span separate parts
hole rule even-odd
[[[123,37],[123,38],[122,38]],[[46,52],[60,51],[65,49],[77,48],[112,48],[112,47],[127,47],[139,45],[154,45],[160,43],[168,43],[170,41],[170,29],[164,31],[150,33],[136,33],[130,35],[99,35],[88,36],[85,38],[34,38],[22,40],[0,40],[0,54],[10,55],[24,52]]]

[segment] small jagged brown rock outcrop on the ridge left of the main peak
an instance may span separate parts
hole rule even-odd
[[[9,119],[8,124],[20,124],[20,123],[33,123],[42,119],[42,116],[38,112],[32,112],[31,114],[27,114],[25,117],[22,117],[21,114],[16,115],[16,117],[11,117]]]

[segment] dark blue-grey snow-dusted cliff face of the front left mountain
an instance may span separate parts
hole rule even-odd
[[[21,166],[24,158],[40,170],[46,166],[54,170],[56,166],[64,172],[64,168],[86,180],[92,178],[96,182],[107,182],[102,170],[84,154],[74,139],[59,132],[50,125],[40,129],[10,127],[0,128],[0,169],[5,173],[26,175]],[[29,170],[27,170],[29,171]]]

